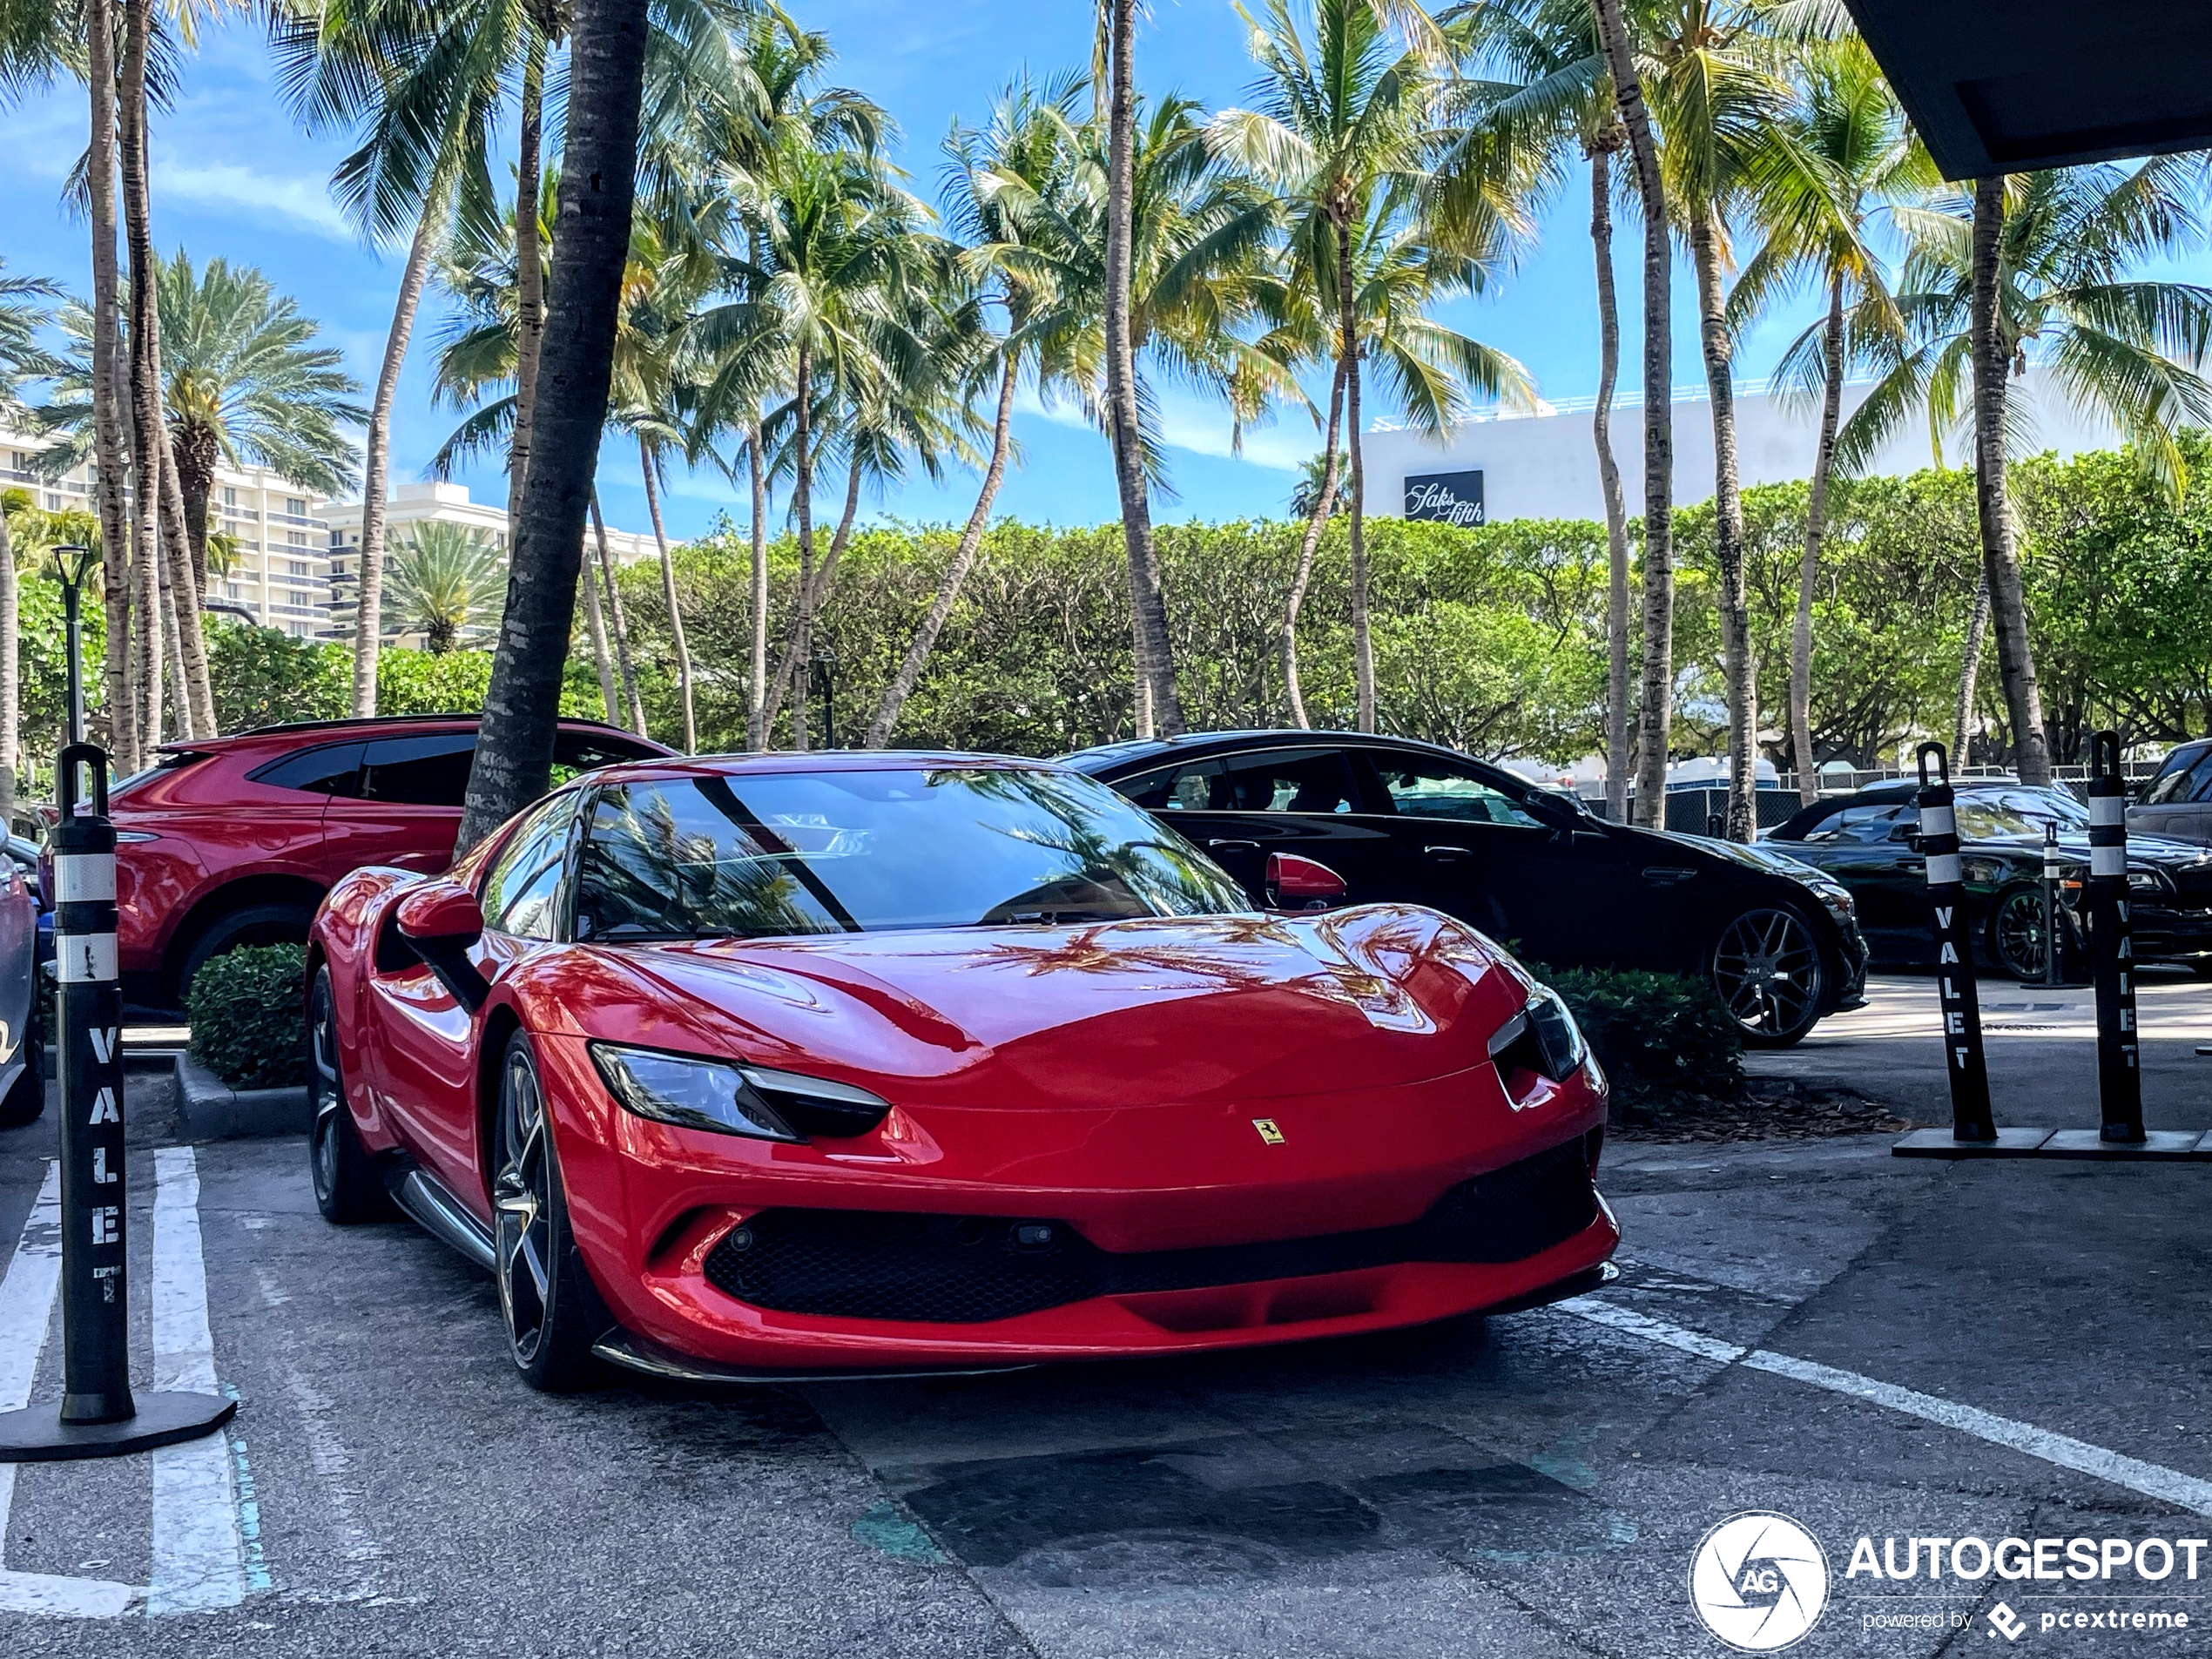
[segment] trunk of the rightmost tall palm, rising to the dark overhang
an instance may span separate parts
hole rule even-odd
[[[2020,781],[2051,783],[2051,737],[2028,648],[2028,608],[2020,597],[2020,553],[2004,489],[2004,378],[2013,352],[1997,319],[1997,259],[2004,237],[2004,179],[1973,181],[1973,504],[1982,520],[1982,577],[1997,626],[1997,677],[2013,721]]]

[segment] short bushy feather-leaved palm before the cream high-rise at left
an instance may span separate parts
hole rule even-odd
[[[184,491],[192,575],[208,584],[208,493],[217,465],[252,465],[338,495],[352,489],[354,445],[341,427],[367,422],[345,354],[314,345],[321,327],[252,265],[190,257],[155,272],[168,440]]]

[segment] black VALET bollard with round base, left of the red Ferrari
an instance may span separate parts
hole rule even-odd
[[[80,774],[91,781],[84,801]],[[55,757],[53,958],[62,1108],[62,1407],[0,1413],[0,1462],[115,1458],[210,1433],[237,1402],[131,1394],[124,1199],[124,993],[115,971],[115,825],[108,757]],[[80,807],[88,805],[84,812]]]

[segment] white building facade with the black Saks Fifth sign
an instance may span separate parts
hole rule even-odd
[[[1851,414],[1869,387],[1851,385],[1843,411]],[[2013,380],[2013,400],[2031,416],[2035,447],[2059,456],[2117,449],[2121,434],[2101,416],[2077,409],[2051,380],[2028,369]],[[1540,405],[1531,416],[1498,416],[1451,427],[1442,438],[1418,431],[1365,436],[1367,509],[1462,524],[1509,518],[1604,518],[1597,447],[1590,434],[1595,400]],[[1785,403],[1763,387],[1736,394],[1736,458],[1745,484],[1812,478],[1820,436],[1818,405]],[[1971,456],[1951,442],[1944,465]],[[1644,409],[1621,403],[1613,414],[1613,456],[1621,469],[1628,515],[1644,511]],[[1913,420],[1876,453],[1869,473],[1911,473],[1936,462],[1927,420]],[[1712,498],[1712,411],[1703,387],[1674,389],[1674,502]]]

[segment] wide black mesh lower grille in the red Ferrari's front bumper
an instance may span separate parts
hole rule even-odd
[[[728,1296],[783,1314],[980,1325],[1091,1296],[1248,1285],[1400,1261],[1522,1261],[1590,1225],[1582,1139],[1462,1181],[1398,1228],[1197,1250],[1099,1250],[1066,1221],[763,1210],[706,1259]]]

